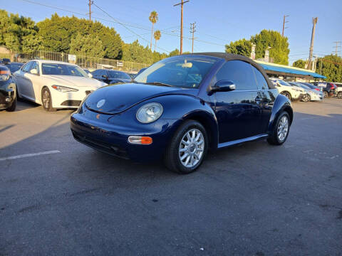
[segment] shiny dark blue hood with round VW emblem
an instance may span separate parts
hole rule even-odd
[[[118,114],[139,102],[170,94],[197,95],[198,90],[180,87],[145,85],[137,83],[108,85],[95,90],[86,99],[86,107],[104,114]],[[101,104],[102,103],[102,104]]]

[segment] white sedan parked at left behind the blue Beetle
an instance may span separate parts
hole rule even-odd
[[[31,60],[14,78],[18,97],[41,104],[46,111],[77,108],[86,95],[107,85],[88,77],[78,65],[51,60]]]

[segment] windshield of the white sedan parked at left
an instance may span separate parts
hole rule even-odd
[[[43,75],[72,75],[88,78],[86,72],[76,65],[43,63],[41,69]]]

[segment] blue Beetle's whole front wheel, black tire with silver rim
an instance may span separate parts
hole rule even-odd
[[[167,146],[165,166],[178,174],[190,174],[202,164],[208,145],[207,131],[202,124],[187,120],[177,129]]]

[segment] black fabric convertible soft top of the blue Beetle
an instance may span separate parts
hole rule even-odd
[[[261,67],[261,65],[259,65],[258,63],[256,63],[254,60],[252,60],[251,58],[247,58],[246,56],[243,55],[237,55],[237,54],[233,54],[233,53],[219,53],[219,52],[213,52],[213,53],[190,53],[187,55],[204,55],[204,56],[212,56],[212,57],[216,57],[216,58],[223,58],[224,60],[242,60],[244,62],[247,62],[249,64],[251,64],[252,66],[254,66],[254,68],[257,68],[257,70],[259,70],[261,72],[262,75],[264,75],[264,78],[266,79],[267,84],[269,85],[270,89],[274,89],[274,85],[271,82],[271,80],[269,80],[269,77],[266,75],[266,72],[264,70],[264,68]]]

